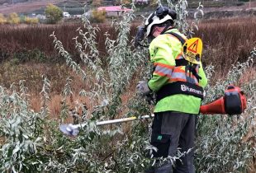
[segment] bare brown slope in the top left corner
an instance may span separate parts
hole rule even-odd
[[[50,0],[50,1],[36,1],[36,2],[21,2],[16,4],[10,5],[1,5],[0,6],[0,13],[2,14],[9,14],[12,12],[31,12],[41,7],[47,6],[49,3],[55,4],[59,2],[64,2],[64,0]]]

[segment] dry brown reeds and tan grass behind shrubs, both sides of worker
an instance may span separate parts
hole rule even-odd
[[[135,35],[135,27],[137,25],[132,26],[130,36]],[[61,92],[64,89],[66,78],[72,77],[74,93],[78,93],[82,88],[86,89],[87,86],[79,77],[73,74],[71,69],[62,63],[63,60],[60,60],[61,58],[58,58],[49,35],[55,30],[55,34],[63,42],[64,47],[79,62],[78,54],[75,53],[72,41],[72,38],[76,35],[75,30],[79,26],[81,25],[0,26],[1,85],[8,87],[13,82],[18,83],[21,79],[25,79],[26,86],[31,94],[31,107],[38,111],[40,110],[40,101],[37,98],[39,98],[38,93],[42,86],[41,76],[45,74],[51,82],[50,110],[53,116],[57,117],[61,106],[60,101],[63,99]],[[103,34],[109,32],[113,38],[115,30],[109,24],[102,24],[99,27],[101,31],[97,37],[97,46],[104,58],[106,50],[104,41],[102,41]],[[216,68],[211,81],[224,78],[224,74],[231,68],[231,64],[237,61],[244,62],[249,57],[250,50],[256,45],[255,17],[207,20],[202,21],[199,28],[200,30],[197,31],[196,35],[203,40],[203,63],[206,65],[212,64]],[[33,49],[39,49],[46,54],[46,63],[28,63],[26,60],[22,60],[22,56],[26,57],[26,51]],[[24,55],[20,53],[21,51],[23,51],[22,54],[24,53]],[[22,56],[15,54],[21,54]],[[18,61],[16,62],[16,60]],[[53,61],[59,61],[59,63],[52,63]],[[249,82],[252,77],[255,77],[254,67],[244,73],[240,82]],[[134,80],[139,79],[135,77]],[[135,82],[131,84],[130,88],[135,88]],[[133,89],[128,89],[126,94],[122,96],[123,102],[126,103],[132,91]],[[79,101],[80,99],[76,94],[73,95],[74,101]],[[89,101],[87,102],[89,104]],[[72,104],[70,106],[74,107]],[[88,106],[92,107],[92,105]]]

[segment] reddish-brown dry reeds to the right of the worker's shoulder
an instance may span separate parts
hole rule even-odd
[[[244,62],[256,45],[256,17],[203,21],[197,35],[204,49],[202,61],[216,68],[215,79],[222,77],[231,64]]]

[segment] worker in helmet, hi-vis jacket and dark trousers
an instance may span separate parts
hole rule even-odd
[[[168,7],[158,7],[149,15],[141,32],[151,40],[150,61],[154,72],[149,81],[136,86],[143,96],[156,93],[151,145],[157,148],[153,156],[174,157],[188,152],[180,160],[168,161],[150,168],[147,173],[193,173],[195,119],[199,113],[203,88],[207,84],[206,74],[197,55],[197,64],[184,58],[186,36],[175,28],[176,12]],[[142,38],[135,38],[138,40]],[[184,44],[184,45],[183,45]]]

